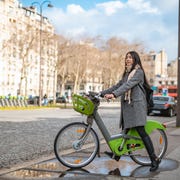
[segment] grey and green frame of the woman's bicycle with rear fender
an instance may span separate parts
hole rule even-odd
[[[141,137],[139,136],[135,128],[131,128],[127,134],[120,133],[116,135],[110,135],[108,129],[106,128],[102,118],[97,111],[97,108],[95,108],[93,116],[89,117],[94,118],[109,148],[115,155],[121,156],[125,153],[128,153],[129,151],[135,151],[137,149],[144,148],[143,141],[141,140]],[[89,126],[92,126],[92,124],[89,124]],[[154,129],[165,130],[165,127],[157,121],[148,120],[145,125],[147,134],[150,134]]]

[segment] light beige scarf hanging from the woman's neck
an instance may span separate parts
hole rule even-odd
[[[132,66],[126,66],[126,72],[130,72],[131,71]],[[137,71],[137,69],[139,69],[140,66],[137,64],[135,66],[135,68],[129,73],[128,78],[127,78],[127,82],[134,76],[135,72]],[[127,92],[125,92],[125,98],[124,100],[127,100],[128,103],[131,103],[131,89],[128,90]]]

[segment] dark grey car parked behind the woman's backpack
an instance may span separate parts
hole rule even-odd
[[[148,109],[148,115],[162,114],[169,117],[176,115],[177,103],[171,96],[153,96],[154,106]]]

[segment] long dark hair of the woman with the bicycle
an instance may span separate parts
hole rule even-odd
[[[135,66],[138,64],[138,65],[140,66],[140,68],[141,68],[141,69],[143,70],[143,72],[144,72],[144,68],[143,68],[143,66],[142,66],[142,63],[141,63],[141,59],[140,59],[140,57],[139,57],[139,54],[138,54],[136,51],[129,51],[129,52],[127,52],[127,54],[126,54],[126,57],[127,57],[128,54],[130,54],[130,55],[132,56],[133,60],[134,60],[133,65],[132,65],[132,68],[131,68],[131,71],[132,71],[132,70],[135,68]],[[126,57],[125,57],[125,59],[126,59]],[[130,72],[131,72],[131,71],[130,71]],[[124,70],[123,77],[125,76],[125,74],[126,74],[126,69]],[[150,87],[150,85],[149,85],[149,83],[148,83],[148,80],[147,80],[147,78],[146,78],[145,72],[144,72],[144,83],[145,83],[147,86]]]

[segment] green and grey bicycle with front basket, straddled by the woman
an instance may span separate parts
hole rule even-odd
[[[88,165],[97,154],[100,154],[100,141],[92,128],[95,121],[114,157],[128,154],[133,161],[140,165],[151,165],[145,146],[138,132],[131,128],[128,133],[110,135],[98,113],[100,95],[89,92],[89,95],[73,94],[73,108],[75,111],[87,116],[85,122],[73,122],[64,126],[56,135],[54,152],[56,158],[69,168],[82,168]],[[167,136],[165,125],[160,122],[148,120],[145,130],[152,139],[155,153],[162,159],[167,150]]]

